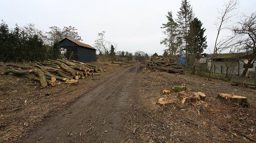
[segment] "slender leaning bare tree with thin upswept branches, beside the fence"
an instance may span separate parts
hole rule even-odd
[[[237,0],[229,0],[228,3],[224,4],[224,8],[222,10],[218,10],[220,13],[220,16],[218,17],[219,22],[216,22],[216,27],[217,27],[217,36],[215,40],[215,45],[213,49],[213,54],[212,54],[212,62],[211,62],[211,68],[209,72],[209,79],[211,78],[212,74],[212,67],[215,62],[214,57],[216,56],[217,53],[220,53],[221,51],[227,49],[229,47],[229,44],[233,41],[233,36],[229,38],[221,38],[220,39],[220,32],[223,29],[228,29],[229,25],[226,25],[228,22],[230,22],[230,18],[236,15],[234,11],[237,9],[239,2]]]

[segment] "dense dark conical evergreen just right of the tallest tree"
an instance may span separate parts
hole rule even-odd
[[[205,28],[202,28],[202,22],[198,18],[194,18],[188,30],[186,41],[188,42],[187,51],[189,54],[201,54],[207,47],[206,36],[204,36]]]

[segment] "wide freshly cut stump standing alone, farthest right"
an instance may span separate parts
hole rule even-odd
[[[233,102],[233,103],[238,103],[239,105],[243,107],[248,107],[247,103],[247,97],[244,96],[236,96],[236,95],[230,95],[226,93],[219,93],[217,96],[218,99],[224,100],[225,102]]]

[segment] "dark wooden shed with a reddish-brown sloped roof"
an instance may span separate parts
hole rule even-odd
[[[68,59],[81,62],[96,61],[96,49],[88,44],[65,38],[59,42],[60,51],[65,51],[64,55]]]

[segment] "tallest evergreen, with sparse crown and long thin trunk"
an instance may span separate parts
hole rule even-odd
[[[192,21],[194,17],[192,7],[187,0],[182,0],[180,11],[178,11],[177,16],[178,16],[178,19],[176,20],[180,25],[180,29],[183,33],[183,39],[185,40],[185,53],[186,53],[186,59],[187,59],[187,40],[185,39],[185,37],[187,37],[189,23]],[[186,65],[187,65],[187,60],[186,60]]]

